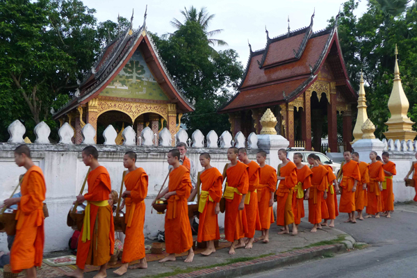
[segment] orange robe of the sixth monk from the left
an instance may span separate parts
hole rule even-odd
[[[238,164],[226,170],[227,186],[237,188],[240,193],[235,191],[233,199],[226,199],[224,211],[224,236],[232,243],[234,240],[244,238],[247,232],[246,212],[245,209],[239,211],[239,204],[249,188],[248,168],[245,163],[238,161]]]

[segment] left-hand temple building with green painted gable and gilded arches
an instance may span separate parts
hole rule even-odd
[[[138,30],[133,30],[132,15],[130,27],[108,42],[79,83],[74,99],[54,114],[61,125],[68,122],[73,127],[76,144],[82,142],[81,129],[86,123],[97,132],[98,125],[103,128],[122,122],[122,129],[126,123],[136,130],[138,145],[146,126],[154,131],[156,140],[158,131],[167,127],[174,145],[181,116],[194,111],[163,65],[145,20]],[[121,132],[116,140],[119,144]]]

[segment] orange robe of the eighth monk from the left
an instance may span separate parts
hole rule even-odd
[[[270,206],[271,195],[277,190],[277,171],[270,165],[261,167],[261,179],[259,180],[258,209],[261,220],[261,229],[267,230],[275,222],[274,212]]]

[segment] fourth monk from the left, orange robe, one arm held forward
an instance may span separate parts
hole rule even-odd
[[[188,251],[185,262],[191,263],[194,258],[193,234],[188,219],[187,204],[193,188],[190,171],[179,162],[178,149],[171,149],[167,156],[167,162],[173,168],[170,172],[170,182],[168,187],[159,193],[156,199],[165,197],[168,201],[167,213],[165,214],[165,231],[167,231],[165,233],[165,251],[169,255],[159,262],[175,261],[175,254]]]

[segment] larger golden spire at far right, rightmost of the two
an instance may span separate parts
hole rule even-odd
[[[394,67],[394,83],[393,90],[388,101],[389,112],[391,117],[385,124],[388,126],[388,131],[384,132],[387,140],[414,140],[417,135],[416,131],[412,130],[414,122],[411,122],[407,116],[409,109],[409,101],[402,88],[400,79],[400,67],[398,67],[398,48],[395,44],[395,67]]]

